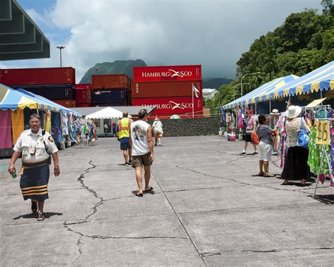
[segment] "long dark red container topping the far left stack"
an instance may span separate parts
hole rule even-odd
[[[0,70],[4,85],[75,84],[74,68],[10,68]]]

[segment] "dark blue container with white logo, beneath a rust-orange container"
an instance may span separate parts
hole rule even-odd
[[[94,89],[92,91],[93,104],[126,103],[128,91],[125,89]]]

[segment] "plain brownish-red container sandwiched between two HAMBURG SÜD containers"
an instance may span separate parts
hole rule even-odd
[[[202,97],[202,80],[185,82],[132,82],[132,98],[192,97],[192,85]]]

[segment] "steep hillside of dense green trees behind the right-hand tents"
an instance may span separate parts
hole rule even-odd
[[[236,99],[240,97],[240,86],[237,84],[247,73],[261,72],[242,80],[249,83],[242,87],[243,94],[276,77],[290,74],[301,76],[333,61],[333,0],[323,0],[321,4],[323,11],[292,13],[283,25],[256,39],[249,51],[237,61],[237,78],[229,85],[221,86],[216,98],[206,101],[206,105],[218,107],[233,101],[234,94]]]

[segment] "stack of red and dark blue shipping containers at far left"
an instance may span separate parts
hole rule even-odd
[[[68,108],[75,107],[74,68],[16,68],[0,70],[0,82],[23,88]]]

